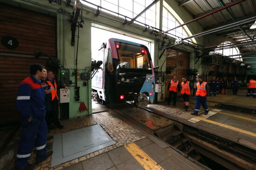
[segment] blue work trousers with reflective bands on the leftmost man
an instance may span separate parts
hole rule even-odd
[[[26,118],[21,118],[21,137],[15,159],[15,167],[22,169],[27,165],[27,161],[36,148],[36,161],[47,156],[47,124],[45,117],[33,118],[30,122]]]

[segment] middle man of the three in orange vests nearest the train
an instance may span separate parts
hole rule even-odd
[[[184,102],[184,109],[185,111],[188,111],[189,108],[189,95],[191,94],[190,89],[192,88],[192,85],[189,81],[187,81],[187,78],[183,76],[182,78],[182,97]]]

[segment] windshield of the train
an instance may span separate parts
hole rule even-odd
[[[115,42],[120,68],[151,70],[145,47]]]

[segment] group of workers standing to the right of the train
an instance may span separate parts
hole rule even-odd
[[[207,82],[202,81],[201,75],[197,75],[196,80],[197,80],[197,83],[195,84],[195,110],[192,113],[192,115],[198,114],[198,112],[200,111],[201,105],[204,109],[204,114],[207,115],[209,112],[209,108],[207,106],[206,101],[207,101],[209,88],[210,88],[209,96],[211,96],[212,94],[216,96],[218,92],[221,92],[222,94],[226,94],[228,91],[229,82],[226,77],[224,77],[223,80],[221,79],[220,81],[216,79],[216,77],[213,77],[213,79],[209,82],[209,85],[208,85]],[[231,86],[232,86],[234,95],[237,95],[238,85],[239,85],[239,81],[235,77],[231,81]],[[180,91],[183,97],[183,102],[184,102],[183,108],[185,109],[185,111],[188,111],[189,96],[191,94],[192,85],[187,80],[187,78],[183,76],[182,83],[180,85],[179,80],[177,80],[177,77],[174,76],[173,79],[170,80],[167,89],[169,90],[169,96],[167,100],[168,105],[170,104],[172,98],[173,98],[173,105],[176,105],[177,92]],[[250,95],[250,92],[253,92],[253,97],[256,98],[256,80],[253,80],[253,79],[249,80],[247,96]]]

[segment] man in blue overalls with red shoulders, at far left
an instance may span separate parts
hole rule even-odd
[[[19,86],[16,108],[20,113],[21,137],[15,159],[18,170],[33,170],[35,164],[28,163],[31,152],[36,148],[38,164],[47,156],[47,124],[45,121],[45,91],[40,79],[47,76],[43,65],[30,65],[30,76],[25,78]]]

